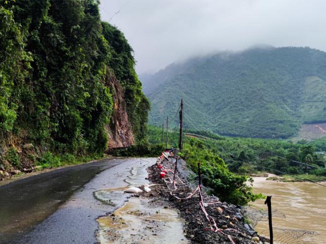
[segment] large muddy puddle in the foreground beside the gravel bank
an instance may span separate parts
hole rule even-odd
[[[97,222],[101,244],[189,243],[183,235],[183,220],[178,212],[151,206],[147,199],[130,198],[123,207]]]

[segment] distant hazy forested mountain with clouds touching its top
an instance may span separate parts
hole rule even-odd
[[[264,47],[192,58],[147,77],[145,93],[153,125],[161,126],[183,98],[185,128],[286,138],[304,123],[326,121],[326,53]]]

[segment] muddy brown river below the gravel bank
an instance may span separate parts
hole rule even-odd
[[[272,196],[275,243],[326,243],[326,187],[310,182],[276,182],[254,177],[254,192]],[[322,182],[326,186],[326,182]],[[269,236],[265,199],[254,202],[255,230]]]

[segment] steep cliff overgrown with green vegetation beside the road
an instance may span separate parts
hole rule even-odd
[[[149,102],[134,63],[98,0],[0,0],[0,169],[141,141]]]

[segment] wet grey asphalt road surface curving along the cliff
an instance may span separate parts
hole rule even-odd
[[[150,162],[102,160],[1,186],[0,243],[97,243],[96,219],[121,206],[127,196],[113,207],[96,200],[93,193],[130,185],[131,169]]]

